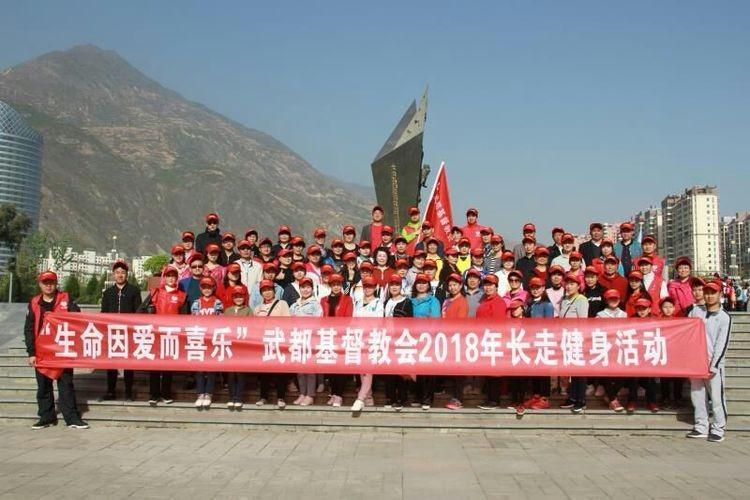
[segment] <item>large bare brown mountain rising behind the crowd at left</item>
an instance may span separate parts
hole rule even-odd
[[[248,226],[309,238],[369,218],[373,197],[268,134],[191,102],[114,51],[82,45],[0,72],[0,100],[44,136],[40,227],[77,247],[165,250],[180,231]],[[366,166],[363,166],[366,168]]]

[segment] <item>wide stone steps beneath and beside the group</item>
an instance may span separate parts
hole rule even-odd
[[[727,353],[727,406],[729,431],[750,432],[750,314],[732,315],[732,340]],[[19,340],[6,346],[0,353],[0,420],[31,424],[36,419],[36,381],[33,370],[26,364],[26,351]],[[620,432],[664,432],[687,431],[692,425],[692,408],[662,410],[652,414],[639,408],[633,415],[615,414],[602,401],[589,398],[588,408],[582,415],[573,415],[567,410],[557,409],[562,398],[553,397],[553,409],[527,410],[523,418],[517,418],[513,410],[505,408],[483,411],[476,408],[481,395],[464,397],[465,409],[445,409],[449,395],[436,395],[435,404],[429,411],[420,408],[404,408],[395,412],[383,408],[384,394],[376,377],[375,403],[359,415],[353,415],[348,407],[325,406],[327,394],[318,394],[315,405],[297,407],[288,404],[278,410],[274,405],[255,406],[258,389],[255,377],[249,376],[245,392],[245,407],[242,412],[230,412],[226,408],[226,390],[214,393],[214,404],[210,410],[194,408],[195,394],[186,390],[185,376],[176,374],[173,389],[175,402],[159,404],[151,408],[145,402],[148,396],[148,374],[136,372],[135,402],[104,401],[97,398],[104,393],[106,382],[103,371],[76,370],[75,387],[79,408],[84,419],[94,425],[147,426],[147,427],[261,427],[261,428],[308,428],[335,430],[347,428],[370,429],[440,429],[440,430],[489,430],[489,429],[557,429],[570,431],[620,431]],[[217,384],[217,387],[218,384]],[[450,391],[450,382],[448,389]],[[685,384],[685,402],[689,402],[689,387]],[[123,382],[118,380],[118,395],[122,396]],[[273,393],[272,393],[273,394]],[[287,403],[296,393],[287,394]],[[344,403],[354,401],[354,384],[349,385]],[[505,399],[503,399],[505,402]]]

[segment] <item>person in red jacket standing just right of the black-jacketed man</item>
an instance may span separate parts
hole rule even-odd
[[[193,256],[194,262],[196,262]],[[193,263],[191,263],[191,266]],[[139,313],[148,314],[188,314],[187,295],[177,287],[178,271],[176,268],[167,266],[162,273],[164,283],[152,291],[138,309]],[[149,376],[149,398],[148,404],[156,406],[159,400],[165,404],[172,404],[172,372],[152,371]]]

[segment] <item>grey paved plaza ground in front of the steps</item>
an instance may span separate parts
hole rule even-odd
[[[0,424],[3,498],[748,498],[750,436]]]

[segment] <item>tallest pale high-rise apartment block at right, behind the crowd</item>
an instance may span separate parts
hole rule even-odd
[[[719,194],[715,186],[695,186],[662,201],[665,245],[663,254],[672,263],[679,256],[693,261],[697,275],[720,272],[721,238]]]

